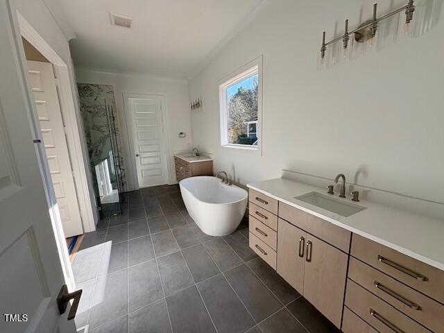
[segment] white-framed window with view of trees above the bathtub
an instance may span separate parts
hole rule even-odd
[[[262,57],[219,85],[221,145],[259,151],[262,118]]]

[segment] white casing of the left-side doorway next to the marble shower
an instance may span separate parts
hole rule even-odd
[[[88,176],[85,171],[85,166],[89,165],[89,161],[83,157],[82,142],[83,133],[78,127],[76,119],[76,106],[74,104],[74,96],[71,91],[71,80],[69,79],[69,69],[65,62],[58,56],[56,51],[53,51],[51,46],[35,31],[24,17],[17,12],[17,19],[19,29],[22,36],[30,42],[35,49],[40,51],[42,55],[53,64],[56,69],[57,88],[60,96],[60,109],[66,125],[66,134],[68,142],[69,156],[71,157],[71,165],[73,168],[74,184],[76,186],[78,206],[80,208],[80,216],[82,219],[82,226],[84,232],[96,230],[97,216],[94,214],[96,209],[94,203],[94,196],[91,196],[90,188],[88,187]],[[75,84],[75,83],[74,83]],[[33,111],[34,108],[33,108]],[[38,119],[37,119],[38,121]],[[92,200],[93,198],[93,200]]]

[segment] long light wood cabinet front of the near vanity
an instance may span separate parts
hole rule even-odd
[[[344,333],[444,332],[444,271],[250,188],[250,248]]]

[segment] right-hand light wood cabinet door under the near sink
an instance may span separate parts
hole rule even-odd
[[[341,327],[347,261],[341,250],[307,234],[303,295],[336,327]]]

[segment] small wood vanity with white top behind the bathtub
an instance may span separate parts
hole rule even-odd
[[[213,160],[210,157],[187,157],[175,155],[176,179],[180,180],[194,176],[213,176]]]

